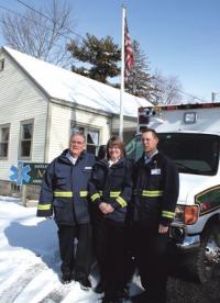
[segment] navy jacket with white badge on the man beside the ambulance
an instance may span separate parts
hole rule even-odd
[[[134,179],[134,222],[148,226],[167,226],[175,215],[179,177],[174,164],[162,153],[145,164],[144,155],[136,161]]]

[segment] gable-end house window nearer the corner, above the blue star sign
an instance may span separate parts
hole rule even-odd
[[[33,121],[21,123],[20,157],[31,158],[31,147],[33,141]]]

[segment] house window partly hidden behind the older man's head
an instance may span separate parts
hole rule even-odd
[[[72,125],[72,134],[73,133],[82,133],[86,137],[86,149],[88,153],[97,154],[97,149],[99,147],[99,137],[100,131],[89,127],[89,126],[80,126],[73,124]]]

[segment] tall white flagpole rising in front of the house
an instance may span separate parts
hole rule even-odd
[[[123,139],[123,92],[124,92],[124,20],[125,20],[125,5],[122,5],[122,47],[121,47],[121,90],[120,90],[120,125],[119,136]]]

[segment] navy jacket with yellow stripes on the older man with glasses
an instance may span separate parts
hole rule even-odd
[[[88,181],[95,156],[82,153],[73,165],[66,157],[68,149],[55,158],[43,178],[37,216],[52,216],[57,224],[76,225],[90,222]]]

